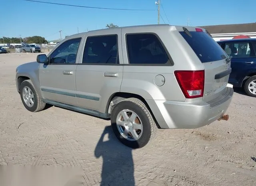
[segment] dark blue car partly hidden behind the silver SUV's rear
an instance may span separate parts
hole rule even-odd
[[[256,97],[256,39],[222,40],[218,44],[231,58],[229,83]]]

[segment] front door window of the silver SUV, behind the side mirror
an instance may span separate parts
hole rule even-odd
[[[76,63],[76,55],[81,38],[68,40],[58,46],[50,56],[50,63]]]

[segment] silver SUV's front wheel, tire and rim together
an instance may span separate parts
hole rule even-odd
[[[46,103],[44,103],[38,96],[38,93],[30,79],[21,83],[20,97],[24,107],[30,112],[42,111],[46,106]]]

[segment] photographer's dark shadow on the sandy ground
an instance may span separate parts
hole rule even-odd
[[[104,138],[106,134],[108,138]],[[105,127],[94,155],[96,158],[103,158],[100,185],[134,186],[132,148],[124,146],[116,139],[111,126]]]

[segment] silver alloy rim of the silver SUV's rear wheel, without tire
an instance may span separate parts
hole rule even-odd
[[[129,109],[124,109],[118,113],[116,118],[116,126],[119,133],[126,140],[136,141],[142,136],[142,121],[134,111]]]

